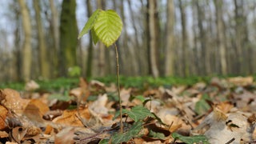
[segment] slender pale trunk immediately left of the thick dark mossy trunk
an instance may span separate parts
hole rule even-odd
[[[54,77],[58,71],[58,54],[59,54],[59,29],[58,29],[58,10],[54,6],[54,0],[49,0],[50,2],[50,11],[51,11],[51,34],[53,35],[54,47],[50,53],[50,59],[52,61],[51,71],[53,72]]]

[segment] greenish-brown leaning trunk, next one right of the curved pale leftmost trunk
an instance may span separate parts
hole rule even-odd
[[[41,9],[39,1],[33,1],[33,6],[35,10],[35,17],[37,22],[38,29],[38,42],[39,42],[39,66],[40,72],[42,74],[42,78],[50,78],[50,70],[49,70],[49,62],[46,55],[46,40],[44,35],[44,30],[42,26],[41,19]]]

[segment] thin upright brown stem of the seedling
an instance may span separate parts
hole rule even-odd
[[[118,78],[118,98],[119,98],[119,106],[120,106],[120,130],[122,134],[122,102],[121,102],[121,96],[120,96],[120,81],[119,81],[119,60],[118,60],[118,47],[114,43],[114,48],[115,48],[115,55],[116,55],[116,60],[117,60],[117,78]]]

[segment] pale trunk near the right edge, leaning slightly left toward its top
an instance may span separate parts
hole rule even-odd
[[[226,44],[225,44],[226,34],[225,34],[224,21],[222,18],[222,15],[223,15],[222,5],[223,5],[222,0],[214,0],[216,25],[217,25],[217,46],[219,49],[221,71],[222,71],[222,74],[226,75],[227,74]]]

